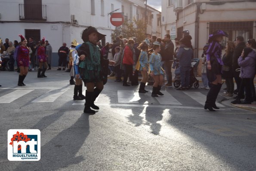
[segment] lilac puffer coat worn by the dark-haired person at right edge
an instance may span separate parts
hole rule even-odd
[[[256,52],[252,51],[247,57],[239,57],[238,65],[241,68],[240,77],[241,78],[254,78],[255,76],[255,64],[256,64]]]

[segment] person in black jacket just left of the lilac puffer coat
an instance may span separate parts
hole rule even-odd
[[[242,36],[237,36],[236,38],[236,47],[234,49],[233,53],[233,60],[232,60],[232,69],[233,69],[233,74],[234,74],[234,80],[237,84],[237,89],[234,90],[235,92],[239,91],[240,84],[241,84],[241,78],[239,77],[240,71],[235,71],[237,68],[240,68],[238,65],[238,58],[241,56],[243,49],[246,47],[246,44],[244,42],[244,37]]]

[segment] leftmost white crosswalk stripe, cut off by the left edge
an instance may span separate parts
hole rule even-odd
[[[15,90],[14,92],[8,93],[0,97],[0,103],[11,103],[16,99],[32,92],[34,89]]]

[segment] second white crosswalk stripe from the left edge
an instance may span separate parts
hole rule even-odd
[[[46,93],[44,93],[43,95],[41,95],[40,97],[36,98],[34,101],[34,103],[40,103],[40,102],[53,102],[55,101],[57,98],[59,98],[59,96],[61,96],[63,93],[65,93],[68,89],[56,89],[56,90],[50,90]]]

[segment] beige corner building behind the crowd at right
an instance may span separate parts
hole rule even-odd
[[[256,38],[256,0],[162,0],[164,16],[168,17],[162,21],[163,32],[176,24],[173,33],[181,39],[183,30],[190,31],[195,58],[201,57],[209,34],[218,29],[229,35],[223,37],[222,46],[239,35],[245,41]]]

